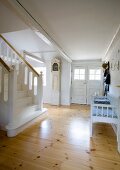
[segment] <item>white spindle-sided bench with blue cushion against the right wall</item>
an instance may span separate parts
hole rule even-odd
[[[90,136],[93,135],[93,123],[104,122],[118,126],[119,98],[95,96],[91,103]]]

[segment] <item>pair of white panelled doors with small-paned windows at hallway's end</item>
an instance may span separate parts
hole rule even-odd
[[[102,95],[102,71],[97,66],[74,66],[71,103],[90,104],[93,95]]]

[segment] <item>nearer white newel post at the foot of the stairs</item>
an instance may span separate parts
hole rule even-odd
[[[15,107],[16,107],[16,96],[17,96],[17,71],[13,66],[13,70],[10,72],[9,77],[9,128],[12,127],[15,120]]]

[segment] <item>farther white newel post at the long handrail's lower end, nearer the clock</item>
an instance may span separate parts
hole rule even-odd
[[[42,72],[40,72],[40,75],[38,77],[37,102],[38,102],[38,109],[42,110],[42,108],[43,108],[43,80],[42,80]]]

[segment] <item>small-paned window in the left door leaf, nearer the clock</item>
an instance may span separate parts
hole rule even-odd
[[[85,80],[85,69],[74,69],[74,80]]]

